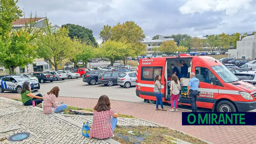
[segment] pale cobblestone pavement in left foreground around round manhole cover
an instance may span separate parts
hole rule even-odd
[[[31,137],[12,144],[110,144],[108,141],[114,141],[86,138],[81,134],[80,124],[63,120],[65,117],[59,114],[43,114],[40,109],[0,97],[0,143],[11,143],[4,138],[20,132],[28,132]]]

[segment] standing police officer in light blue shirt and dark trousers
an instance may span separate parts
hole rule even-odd
[[[192,107],[192,112],[197,112],[197,95],[199,86],[199,79],[195,77],[195,73],[190,74],[189,84],[187,86],[187,94]]]

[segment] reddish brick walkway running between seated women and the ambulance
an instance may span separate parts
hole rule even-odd
[[[19,94],[0,94],[2,97],[19,98]],[[58,97],[58,102],[64,102],[68,106],[80,108],[93,108],[98,99]],[[132,115],[158,124],[172,127],[179,131],[189,133],[215,144],[253,144],[256,143],[255,126],[182,126],[181,112],[156,111],[154,105],[110,100],[111,108],[121,114]],[[169,110],[170,108],[167,108]]]

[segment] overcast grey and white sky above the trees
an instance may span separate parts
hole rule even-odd
[[[52,24],[79,24],[101,43],[103,25],[133,20],[147,39],[156,34],[205,36],[256,31],[256,0],[19,0],[25,17],[32,11]]]

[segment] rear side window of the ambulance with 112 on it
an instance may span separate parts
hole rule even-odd
[[[141,67],[141,80],[154,81],[156,75],[162,76],[163,67]]]

